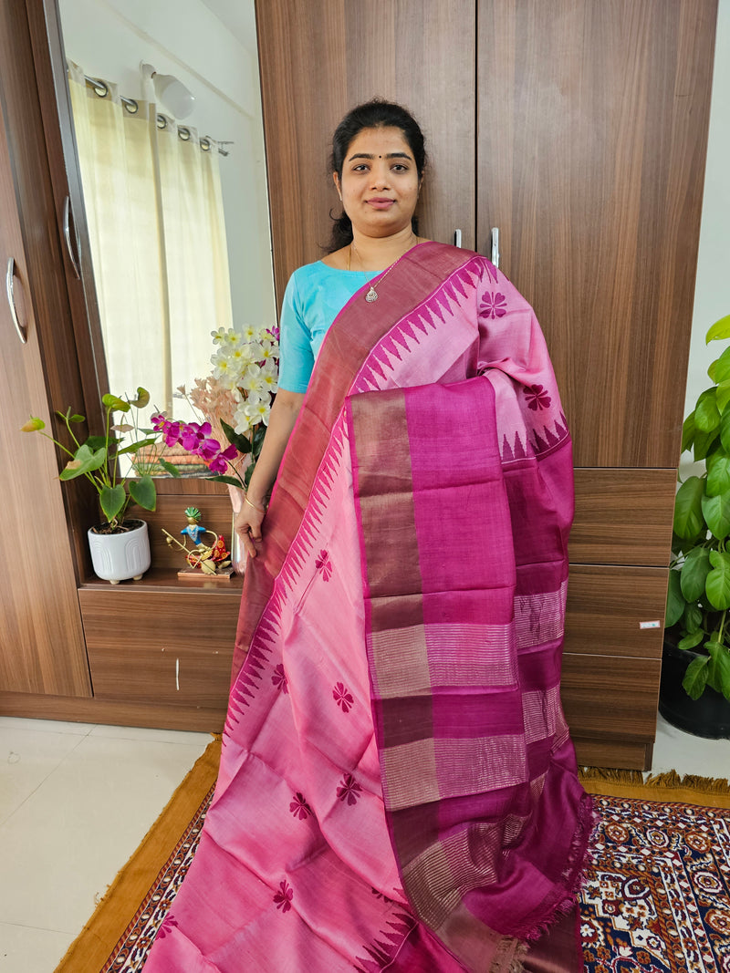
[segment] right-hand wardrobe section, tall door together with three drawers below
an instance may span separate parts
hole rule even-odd
[[[478,0],[477,239],[534,306],[573,436],[563,701],[651,763],[716,0]],[[710,323],[710,322],[709,322]]]

